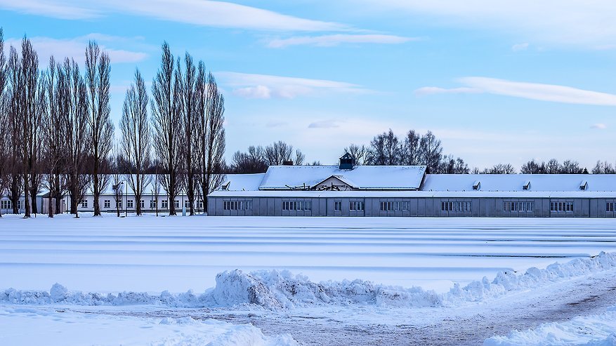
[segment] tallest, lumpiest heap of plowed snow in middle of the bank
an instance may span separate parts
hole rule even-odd
[[[303,275],[287,270],[241,270],[216,276],[213,298],[217,305],[256,304],[268,309],[310,305],[376,304],[394,306],[439,305],[438,295],[421,288],[375,285],[370,281],[312,282]]]

